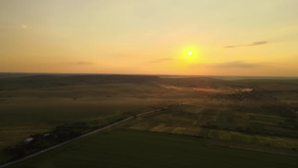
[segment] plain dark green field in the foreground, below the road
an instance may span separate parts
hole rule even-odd
[[[111,131],[8,168],[296,168],[298,157],[213,146],[183,136]]]

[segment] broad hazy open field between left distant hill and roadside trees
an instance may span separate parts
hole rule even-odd
[[[193,101],[154,84],[79,84],[0,91],[0,149],[70,122],[106,124],[122,116]],[[155,86],[156,87],[156,86]],[[163,95],[161,95],[161,93]],[[179,94],[182,94],[181,92]],[[74,99],[76,98],[76,99]],[[1,158],[0,158],[1,161]]]

